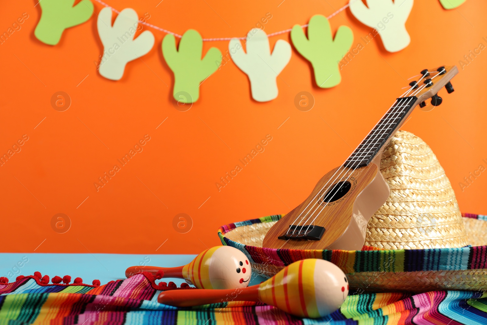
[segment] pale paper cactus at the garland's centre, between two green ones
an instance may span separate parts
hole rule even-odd
[[[277,97],[276,78],[291,59],[291,45],[279,39],[270,53],[267,34],[262,29],[251,29],[246,38],[246,52],[238,38],[228,43],[233,62],[250,80],[252,98],[264,102]]]

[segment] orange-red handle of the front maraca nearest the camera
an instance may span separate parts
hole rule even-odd
[[[176,307],[258,300],[259,285],[240,289],[168,290],[157,297],[159,303]]]

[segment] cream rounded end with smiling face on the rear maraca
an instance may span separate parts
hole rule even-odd
[[[215,250],[209,264],[213,288],[247,287],[251,277],[252,269],[243,252],[230,246]]]

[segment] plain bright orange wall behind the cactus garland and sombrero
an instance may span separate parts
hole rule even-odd
[[[314,14],[327,16],[347,3],[286,0],[278,7],[280,0],[166,0],[155,7],[154,1],[107,1],[119,10],[132,7],[140,17],[149,13],[151,24],[179,34],[194,28],[204,38],[244,36],[267,13],[272,18],[264,30],[272,33],[307,23]],[[1,31],[22,13],[29,15],[0,45],[0,153],[23,134],[29,138],[0,167],[0,245],[7,252],[197,253],[217,245],[221,225],[298,205],[403,92],[404,79],[424,68],[458,66],[479,43],[487,46],[486,1],[467,0],[447,11],[437,0],[416,0],[406,24],[411,44],[391,54],[373,40],[343,67],[335,88],[314,85],[310,64],[293,50],[277,79],[277,99],[253,101],[247,77],[230,61],[202,84],[199,101],[179,112],[171,99],[174,78],[161,54],[164,33],[150,29],[153,49],[143,61],[130,62],[121,80],[111,81],[94,64],[102,52],[95,16],[49,46],[34,37],[40,15],[36,3],[0,4]],[[101,8],[95,2],[95,12]],[[351,26],[354,47],[371,31],[348,10],[331,24],[334,30]],[[290,41],[283,34],[270,38],[271,46],[280,38]],[[228,42],[206,42],[205,53],[211,46],[226,54]],[[487,167],[482,162],[487,160],[486,71],[484,50],[460,68],[453,94],[440,93],[441,106],[430,112],[416,109],[403,128],[431,146],[464,212],[487,213],[487,172],[464,191],[458,184],[480,164]],[[65,112],[51,107],[57,91],[72,99]],[[301,91],[316,100],[309,112],[294,106]],[[96,191],[98,177],[145,134],[150,141],[143,152]],[[267,134],[272,140],[265,151],[218,191],[215,182]],[[56,213],[69,216],[67,232],[51,228]],[[173,228],[178,213],[193,220],[185,234]]]

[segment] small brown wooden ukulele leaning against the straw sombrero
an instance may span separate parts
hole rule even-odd
[[[429,98],[431,105],[440,105],[442,87],[453,92],[450,79],[457,73],[456,66],[421,71],[345,163],[324,175],[303,203],[269,229],[262,246],[362,249],[370,218],[390,195],[379,169],[382,152],[416,105],[425,107]]]

